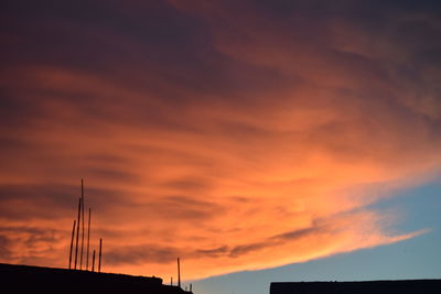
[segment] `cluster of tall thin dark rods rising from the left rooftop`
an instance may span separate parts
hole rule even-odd
[[[84,252],[84,182],[82,179],[82,197],[78,200],[78,216],[77,219],[74,219],[74,226],[72,228],[72,238],[71,238],[71,250],[69,250],[69,262],[68,269],[74,270],[83,270],[83,265],[85,265],[86,271],[89,270],[89,244],[90,244],[90,211],[87,219],[87,243],[86,243],[86,252]],[[79,233],[79,227],[82,227],[82,233]],[[79,238],[82,239],[79,244]],[[74,248],[75,241],[75,248]],[[79,251],[79,257],[78,257]],[[101,252],[103,252],[103,239],[99,238],[99,251],[98,251],[98,272],[101,271]],[[84,255],[86,257],[86,264],[83,264]],[[74,260],[74,262],[72,262]],[[78,262],[79,261],[79,262]],[[74,263],[72,266],[72,263]],[[95,272],[95,249],[92,254],[92,266],[90,270]]]

